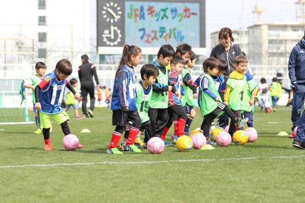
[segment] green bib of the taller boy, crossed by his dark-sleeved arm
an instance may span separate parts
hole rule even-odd
[[[168,85],[168,72],[166,69],[166,73],[164,74],[160,69],[159,76],[156,78],[159,84]],[[150,108],[167,108],[168,107],[168,93],[163,92],[162,94],[158,94],[153,92],[151,95],[151,100],[149,103]]]

